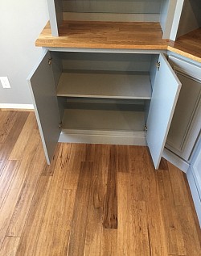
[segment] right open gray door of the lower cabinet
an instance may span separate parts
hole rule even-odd
[[[181,89],[181,82],[163,54],[160,55],[158,63],[146,124],[146,141],[157,170]]]

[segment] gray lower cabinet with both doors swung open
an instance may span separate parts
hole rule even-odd
[[[46,51],[28,80],[48,163],[58,140],[147,144],[158,169],[181,87],[163,54]]]

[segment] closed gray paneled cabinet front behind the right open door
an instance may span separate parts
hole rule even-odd
[[[169,62],[182,89],[167,136],[166,148],[190,162],[201,128],[201,65],[170,56]]]

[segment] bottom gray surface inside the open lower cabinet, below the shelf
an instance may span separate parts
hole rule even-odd
[[[133,132],[143,131],[144,125],[143,111],[66,109],[62,120],[63,128],[72,129],[74,132],[75,130]]]

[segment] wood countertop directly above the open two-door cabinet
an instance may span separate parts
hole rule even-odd
[[[64,21],[59,37],[51,36],[47,23],[36,46],[67,48],[145,48],[166,49],[159,23],[118,23]]]

